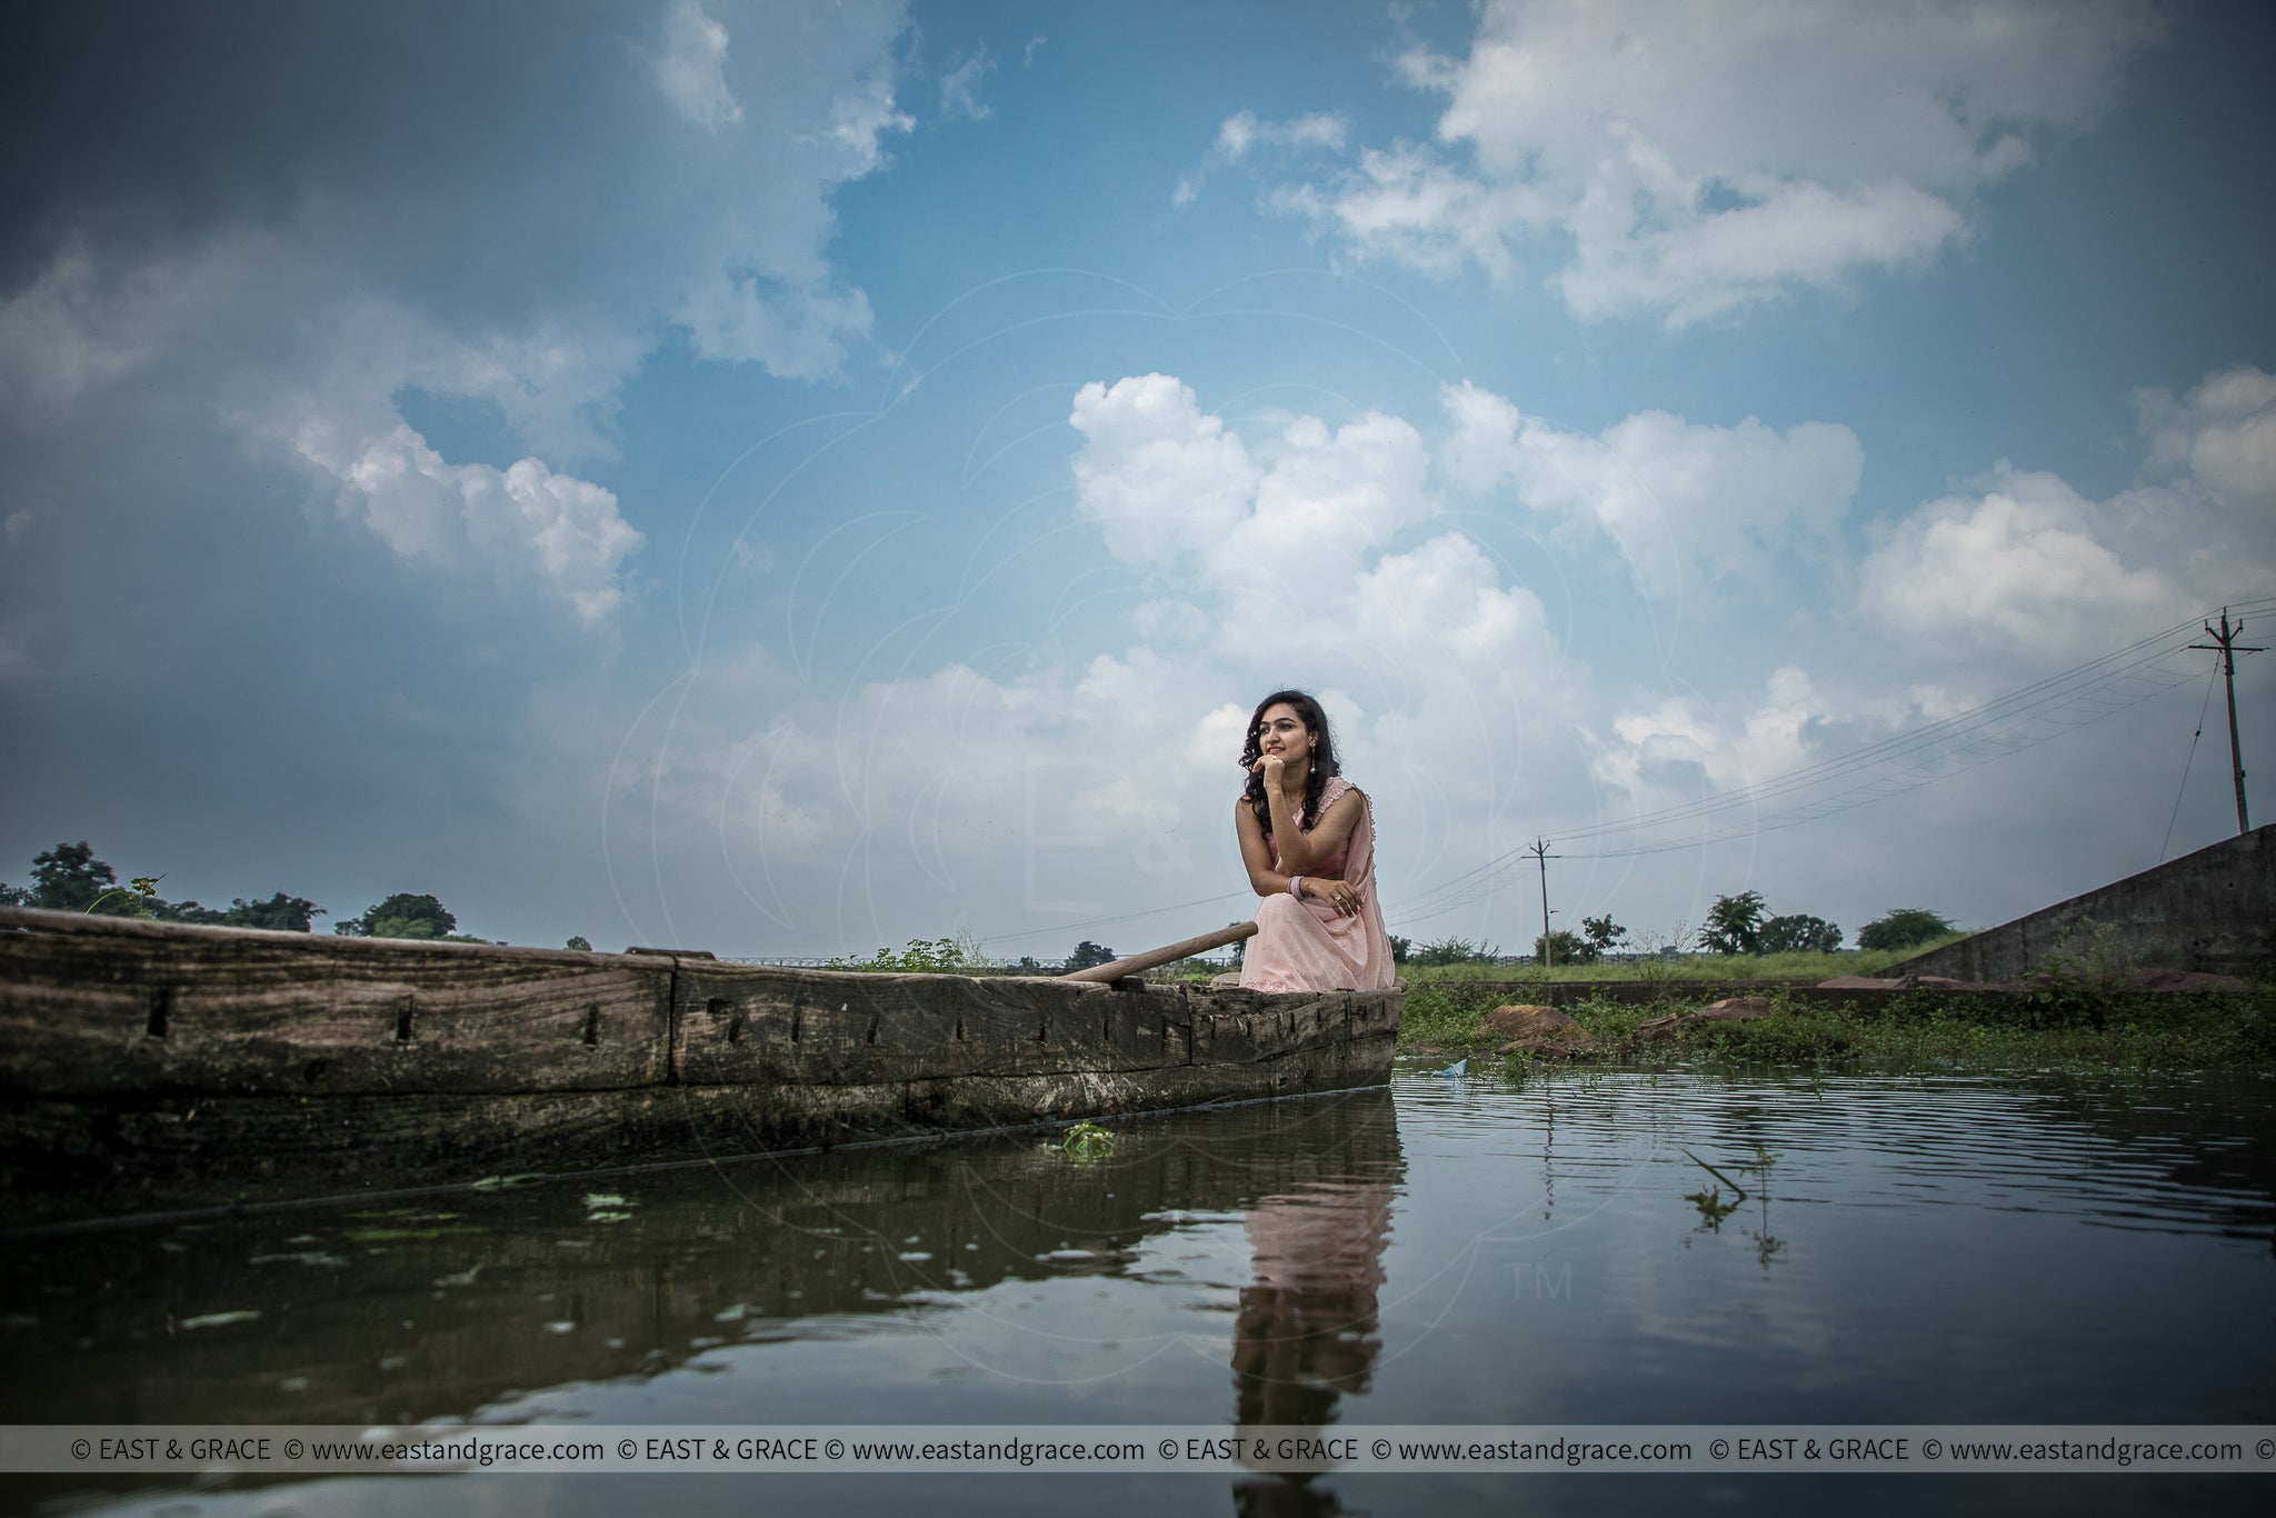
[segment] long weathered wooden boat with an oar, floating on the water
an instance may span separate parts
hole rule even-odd
[[[109,1215],[1382,1086],[1402,1004],[0,908],[0,1195]]]

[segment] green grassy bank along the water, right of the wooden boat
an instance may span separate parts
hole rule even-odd
[[[1507,1040],[1484,1017],[1507,997],[1454,981],[1411,985],[1402,1051],[1477,1054]],[[1698,1008],[1700,997],[1657,1004],[1566,1006],[1598,1047],[1573,1058],[1509,1056],[1543,1065],[1730,1065],[1862,1070],[2242,1070],[2276,1067],[2276,985],[2217,995],[2108,995],[1973,1004],[1937,992],[1891,992],[1848,1006],[1796,1008],[1771,992],[1773,1017],[1716,1022],[1639,1042],[1636,1024]]]

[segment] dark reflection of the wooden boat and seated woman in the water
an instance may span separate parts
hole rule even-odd
[[[1120,1131],[1108,1165],[1029,1133],[18,1234],[0,1354],[41,1372],[0,1377],[0,1420],[473,1418],[1006,1284],[1127,1279],[1149,1238],[1245,1208],[1245,1379],[1265,1397],[1361,1386],[1400,1170],[1391,1095]]]

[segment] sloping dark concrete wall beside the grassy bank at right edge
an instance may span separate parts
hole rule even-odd
[[[2110,929],[2128,970],[2267,974],[2276,965],[2276,824],[2185,853],[2030,917],[1882,970],[2012,983],[2048,954],[2080,951],[2087,924]]]

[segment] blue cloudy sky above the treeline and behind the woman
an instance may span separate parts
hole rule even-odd
[[[1529,949],[1543,874],[1636,947],[2005,922],[2235,831],[2187,644],[2276,630],[2271,55],[2135,0],[7,7],[0,878],[1136,951],[1247,917],[1302,687],[1418,942]],[[2276,774],[2276,655],[2235,696]]]

